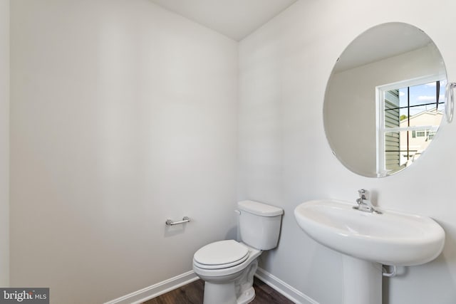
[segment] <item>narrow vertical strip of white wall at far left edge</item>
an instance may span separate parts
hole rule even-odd
[[[0,0],[0,286],[9,285],[9,0]]]

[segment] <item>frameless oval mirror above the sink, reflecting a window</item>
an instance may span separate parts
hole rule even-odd
[[[383,23],[358,36],[334,65],[323,122],[333,154],[365,177],[385,177],[425,152],[445,112],[442,56],[406,23]]]

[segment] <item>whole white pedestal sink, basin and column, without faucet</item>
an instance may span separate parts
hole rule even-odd
[[[414,266],[437,258],[445,231],[426,216],[353,209],[347,201],[307,201],[294,210],[301,229],[343,253],[344,303],[381,304],[382,264]]]

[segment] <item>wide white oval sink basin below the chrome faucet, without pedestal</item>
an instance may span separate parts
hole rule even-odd
[[[307,201],[294,209],[299,226],[318,243],[348,256],[385,265],[413,266],[437,258],[445,231],[426,216],[381,210],[358,211],[333,199]]]

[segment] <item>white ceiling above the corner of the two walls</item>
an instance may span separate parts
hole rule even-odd
[[[150,0],[236,41],[298,0]]]

